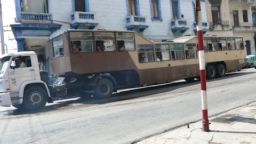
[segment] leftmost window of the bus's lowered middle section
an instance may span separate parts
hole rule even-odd
[[[137,45],[139,62],[155,61],[154,47],[151,44]]]

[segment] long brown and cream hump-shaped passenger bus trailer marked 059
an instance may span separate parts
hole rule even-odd
[[[207,78],[245,67],[243,46],[242,37],[204,37]],[[118,89],[199,76],[195,36],[153,43],[135,31],[67,30],[50,38],[48,47],[51,75],[75,77],[67,89],[98,98]]]

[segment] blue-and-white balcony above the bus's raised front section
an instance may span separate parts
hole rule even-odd
[[[71,25],[73,29],[94,29],[98,26],[95,19],[96,14],[91,12],[73,12],[71,13]]]

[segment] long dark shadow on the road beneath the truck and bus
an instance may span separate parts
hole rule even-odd
[[[208,79],[207,82],[214,82],[214,81],[219,81],[221,79],[229,79],[229,78],[234,78],[234,77],[244,76],[244,75],[249,75],[249,74],[254,74],[254,73],[256,73],[256,71],[246,71],[245,69],[242,69],[241,71],[236,72],[236,73],[227,73],[225,77],[220,77],[220,78],[215,78],[215,79]],[[138,87],[138,88],[135,88],[135,89],[128,89],[128,90],[118,91],[117,93],[113,94],[112,98],[103,99],[103,100],[97,100],[94,97],[78,98],[78,99],[69,100],[69,98],[70,98],[69,97],[69,98],[67,98],[66,101],[61,101],[61,102],[55,101],[54,105],[45,106],[41,110],[20,111],[19,109],[15,109],[15,110],[6,111],[5,115],[40,114],[40,113],[43,113],[45,111],[54,111],[54,110],[58,110],[60,108],[73,106],[73,105],[76,105],[77,103],[86,104],[89,107],[91,105],[100,105],[100,104],[103,104],[103,103],[123,101],[123,100],[146,97],[148,95],[153,95],[153,94],[160,94],[160,93],[164,93],[164,92],[170,92],[170,91],[173,91],[175,89],[179,89],[181,87],[188,87],[188,86],[193,86],[193,85],[198,85],[198,84],[200,84],[200,80],[195,79],[193,82],[186,82],[185,80],[183,80],[183,81],[179,81],[179,82],[172,82],[172,83],[165,83],[165,84],[159,84],[159,85]]]

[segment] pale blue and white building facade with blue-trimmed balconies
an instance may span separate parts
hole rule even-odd
[[[15,7],[18,51],[35,51],[42,62],[47,39],[65,29],[134,30],[151,41],[196,35],[194,0],[15,0]],[[204,0],[201,10],[207,35]]]

